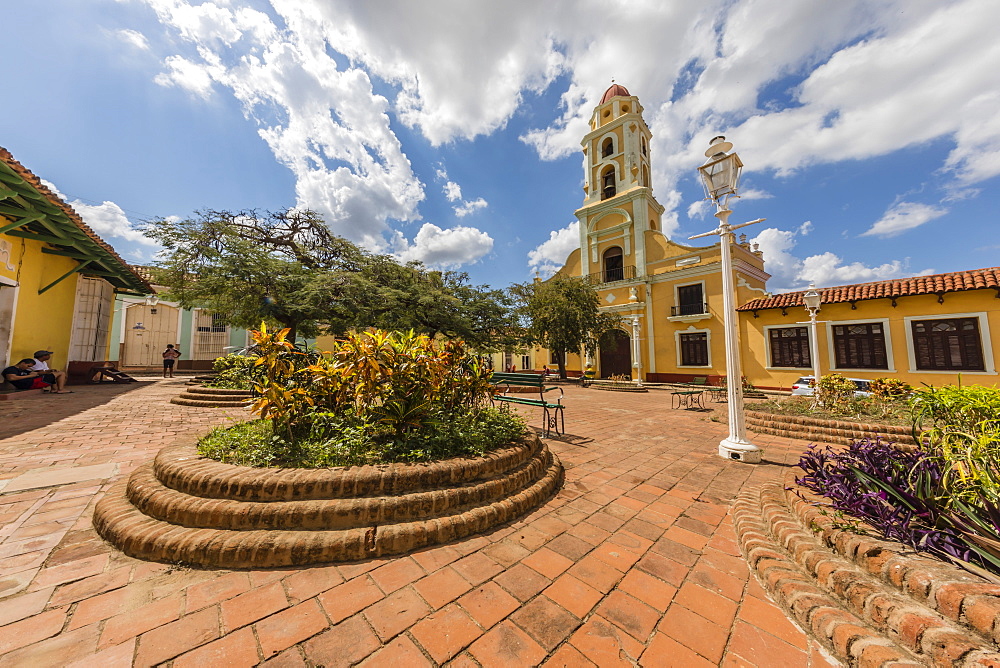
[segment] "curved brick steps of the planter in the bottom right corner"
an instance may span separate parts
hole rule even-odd
[[[882,665],[889,660],[903,665],[1000,662],[992,638],[922,605],[909,592],[873,575],[877,569],[861,568],[826,543],[833,537],[845,553],[856,554],[859,544],[874,539],[843,530],[827,536],[811,520],[803,524],[789,508],[789,500],[776,484],[741,494],[733,506],[740,545],[764,587],[789,616],[838,658],[852,665]],[[822,517],[818,511],[815,515]],[[885,560],[883,555],[880,563]],[[907,562],[917,563],[918,568],[930,561],[907,555]],[[953,568],[938,570],[946,579],[964,578]]]

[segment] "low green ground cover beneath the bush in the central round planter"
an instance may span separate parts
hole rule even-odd
[[[350,415],[316,413],[308,432],[289,442],[272,424],[217,427],[199,441],[198,452],[226,464],[281,468],[429,462],[482,455],[514,442],[526,428],[517,414],[492,407],[441,415],[402,435]]]

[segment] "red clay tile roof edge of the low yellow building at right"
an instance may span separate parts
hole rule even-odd
[[[914,276],[912,278],[895,278],[889,281],[876,281],[874,283],[855,283],[854,285],[842,285],[833,288],[817,288],[817,290],[820,294],[821,303],[838,304],[866,299],[893,299],[896,297],[934,295],[946,292],[962,292],[964,290],[982,290],[985,288],[1000,290],[1000,267],[953,271],[947,274]],[[802,301],[803,294],[805,294],[805,290],[753,299],[736,310],[760,311],[769,308],[804,306],[804,302]]]

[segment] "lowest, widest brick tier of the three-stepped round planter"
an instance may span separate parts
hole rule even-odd
[[[324,531],[232,531],[179,527],[143,515],[129,503],[128,480],[108,490],[94,511],[94,528],[126,554],[154,561],[223,568],[299,566],[400,554],[448,542],[513,520],[559,487],[558,458],[523,491],[482,506],[415,522]]]

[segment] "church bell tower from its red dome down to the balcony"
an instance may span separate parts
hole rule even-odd
[[[646,231],[660,229],[664,210],[650,183],[650,139],[639,98],[612,83],[581,142],[584,200],[576,217],[584,276],[602,272],[601,282],[611,282],[646,274]]]

